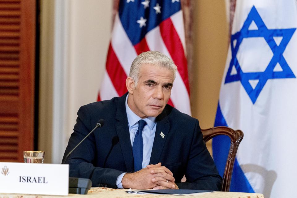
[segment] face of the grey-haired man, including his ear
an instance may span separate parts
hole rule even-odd
[[[130,109],[140,118],[161,114],[170,98],[173,76],[173,71],[166,68],[143,64],[136,88],[130,77],[126,81]]]

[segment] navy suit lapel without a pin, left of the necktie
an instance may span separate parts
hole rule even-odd
[[[115,128],[117,131],[117,135],[119,137],[119,143],[125,160],[127,172],[133,172],[133,154],[130,141],[128,119],[125,108],[126,96],[127,93],[119,98],[117,113],[115,116],[115,118],[117,119],[117,122],[115,123]]]

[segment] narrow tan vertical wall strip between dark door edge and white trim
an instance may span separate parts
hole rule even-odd
[[[54,45],[54,1],[41,1],[40,13],[40,83],[38,149],[45,151],[45,163],[52,156],[52,112],[53,112],[53,45]]]

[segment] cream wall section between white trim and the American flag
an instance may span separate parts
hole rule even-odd
[[[68,138],[80,106],[97,101],[110,42],[112,1],[71,0],[69,40]]]

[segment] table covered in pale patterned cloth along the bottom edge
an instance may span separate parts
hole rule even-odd
[[[175,195],[133,195],[128,194],[127,189],[113,189],[113,188],[91,188],[87,195],[77,195],[69,194],[68,196],[53,196],[53,195],[20,195],[20,194],[5,194],[0,193],[0,198],[180,198],[181,196]],[[262,194],[259,193],[244,193],[244,192],[212,192],[198,196],[190,196],[198,198],[264,198]]]

